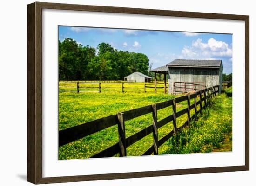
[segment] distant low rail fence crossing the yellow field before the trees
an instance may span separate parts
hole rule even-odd
[[[157,85],[159,84],[164,84],[164,83],[124,83],[124,82],[121,82],[121,83],[118,83],[116,81],[113,81],[113,82],[73,82],[73,81],[69,81],[69,82],[61,82],[61,83],[76,83],[76,87],[75,86],[59,86],[61,88],[76,88],[76,92],[79,93],[79,92],[98,92],[98,93],[101,93],[101,90],[102,89],[120,89],[122,93],[124,93],[125,89],[142,89],[144,90],[144,92],[147,92],[146,91],[146,88],[153,88],[155,89],[155,93],[156,93],[156,89],[163,89],[163,87],[157,87]],[[120,84],[120,88],[118,87],[102,87],[101,84],[103,83],[106,83],[106,84]],[[81,86],[81,84],[95,84],[95,86]],[[142,85],[141,87],[125,87],[125,85]],[[148,86],[148,85],[155,85],[154,87],[153,86]],[[82,90],[81,89],[97,89],[97,90]]]

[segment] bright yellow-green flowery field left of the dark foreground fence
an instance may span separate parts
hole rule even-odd
[[[174,97],[173,95],[163,94],[163,89],[158,89],[158,93],[155,94],[154,89],[148,88],[147,93],[144,93],[144,88],[142,89],[142,87],[144,87],[144,83],[134,83],[134,84],[126,85],[127,87],[128,86],[139,87],[141,89],[136,89],[136,88],[127,89],[125,90],[125,93],[121,93],[120,83],[111,85],[116,87],[116,90],[114,88],[113,89],[106,88],[104,90],[103,88],[101,90],[101,93],[82,92],[79,94],[75,92],[67,92],[68,90],[71,90],[71,89],[73,91],[76,90],[76,88],[70,88],[69,83],[60,82],[59,85],[60,85],[59,130],[76,126],[85,122],[89,122],[101,117],[106,117],[108,115],[114,115],[118,111],[135,109],[135,108],[150,105],[153,103],[163,102],[163,101],[172,99]],[[88,86],[88,84],[86,86]],[[110,85],[107,84],[107,86],[109,87]],[[162,85],[159,85],[159,86],[162,86]],[[221,99],[225,98],[224,94],[223,96],[219,96],[219,97]],[[216,98],[216,102],[218,99],[219,98]],[[225,99],[229,99],[229,98],[225,98]],[[230,103],[228,103],[228,105],[230,106]],[[177,111],[185,108],[186,106],[187,106],[187,102],[177,104]],[[232,98],[231,98],[231,108],[232,108]],[[191,110],[191,115],[193,115],[193,112],[194,110]],[[161,120],[162,118],[170,115],[171,113],[172,113],[171,107],[167,107],[165,109],[159,110],[157,113],[158,120]],[[227,113],[224,115],[228,115]],[[205,117],[208,118],[209,114],[206,115]],[[229,121],[229,124],[232,126],[232,109],[231,109],[230,117],[231,117],[231,123]],[[177,119],[177,126],[178,127],[181,126],[186,121],[186,119],[187,119],[186,115],[179,117]],[[152,114],[143,115],[141,117],[127,121],[125,124],[126,124],[126,137],[128,137],[140,131],[141,129],[151,125]],[[197,125],[195,125],[195,128],[196,126]],[[209,127],[210,127],[210,124],[209,124]],[[168,134],[168,132],[170,132],[171,130],[172,130],[172,122],[168,123],[167,125],[163,126],[158,130],[159,138]],[[193,129],[193,131],[196,131],[196,130]],[[224,141],[223,138],[221,138],[221,141]],[[59,148],[59,159],[88,158],[96,154],[97,152],[105,148],[108,148],[109,146],[115,144],[116,142],[118,142],[117,126],[113,126],[113,127],[104,129],[98,133],[95,133],[93,135],[89,135],[80,140],[61,146]],[[128,156],[141,155],[144,151],[146,151],[150,147],[152,142],[153,142],[153,137],[152,137],[152,134],[150,134],[145,138],[143,138],[142,140],[128,147],[127,155]],[[218,144],[220,143],[221,142],[218,142]],[[173,144],[173,146],[175,146],[175,144]],[[168,141],[159,148],[159,153],[160,154],[175,153],[175,152],[168,152],[170,147],[172,147],[172,143]],[[217,148],[218,146],[216,145],[212,146],[212,149],[217,149]],[[180,152],[186,153],[189,151],[180,151]],[[201,151],[195,151],[195,152],[201,152]]]

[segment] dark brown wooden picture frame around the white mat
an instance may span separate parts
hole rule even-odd
[[[42,178],[42,9],[245,21],[245,165]],[[34,184],[249,170],[249,16],[34,2],[27,6],[27,180]],[[243,113],[241,113],[243,114]]]

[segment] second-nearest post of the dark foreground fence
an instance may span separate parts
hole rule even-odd
[[[153,145],[154,145],[154,155],[158,154],[158,133],[157,133],[157,110],[156,104],[152,105],[153,112]]]

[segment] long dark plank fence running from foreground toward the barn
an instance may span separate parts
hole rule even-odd
[[[217,90],[216,90],[217,89]],[[111,147],[108,147],[101,152],[94,154],[91,158],[101,158],[101,157],[112,157],[115,154],[120,156],[126,156],[126,148],[135,142],[141,140],[145,136],[153,133],[153,144],[141,155],[150,155],[158,154],[158,148],[166,142],[170,137],[173,136],[177,131],[181,130],[185,126],[188,126],[192,119],[197,119],[198,114],[202,114],[202,109],[211,105],[211,98],[216,96],[216,93],[219,92],[219,85],[200,90],[194,94],[188,94],[185,96],[176,97],[172,100],[168,100],[162,103],[156,103],[141,107],[138,109],[132,109],[125,112],[118,112],[116,115],[110,115],[101,119],[94,120],[92,122],[87,122],[75,127],[67,128],[59,131],[59,147],[70,143],[72,141],[81,139],[85,136],[99,132],[105,128],[116,125],[118,128],[118,138],[119,142],[115,143]],[[203,95],[203,97],[202,97]],[[197,96],[199,96],[199,101],[196,101]],[[190,100],[194,99],[194,103],[191,105]],[[187,108],[182,109],[176,112],[176,104],[182,101],[187,101]],[[202,106],[202,102],[204,105]],[[200,105],[200,109],[197,110],[197,105]],[[157,120],[157,111],[164,109],[166,107],[172,107],[172,114],[168,117],[158,121]],[[195,114],[190,116],[190,110],[195,109]],[[141,131],[130,135],[126,138],[125,135],[125,122],[141,115],[146,115],[152,113],[152,125],[147,128],[142,129]],[[176,126],[176,119],[184,114],[187,114],[187,121],[179,128]],[[173,130],[171,130],[167,135],[163,136],[161,139],[158,139],[158,129],[167,124],[168,122],[173,121]]]

